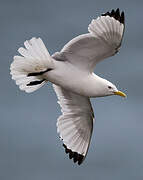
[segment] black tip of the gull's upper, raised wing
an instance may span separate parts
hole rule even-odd
[[[102,14],[102,16],[110,16],[115,18],[117,21],[119,21],[122,24],[125,24],[125,16],[124,16],[124,12],[122,11],[120,14],[120,9],[117,8],[116,10],[112,9],[111,12],[106,12],[104,14]]]

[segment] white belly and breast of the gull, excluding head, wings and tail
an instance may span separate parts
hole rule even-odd
[[[90,75],[69,62],[56,61],[55,69],[45,73],[48,81],[82,96],[92,96]]]

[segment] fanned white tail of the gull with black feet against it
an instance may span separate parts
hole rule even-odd
[[[40,38],[27,40],[24,45],[18,49],[21,56],[13,58],[10,74],[21,90],[30,93],[47,82],[44,73],[52,70],[53,59]]]

